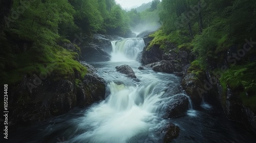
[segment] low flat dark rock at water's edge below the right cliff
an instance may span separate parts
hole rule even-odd
[[[178,61],[160,61],[145,65],[145,67],[152,67],[154,71],[162,73],[174,73],[181,72],[182,68]]]

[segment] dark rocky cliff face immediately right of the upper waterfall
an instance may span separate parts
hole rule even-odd
[[[140,62],[145,65],[144,67],[151,67],[158,72],[176,73],[182,76],[183,67],[192,58],[187,51],[179,50],[173,43],[166,43],[164,50],[160,49],[159,45],[148,46],[150,44],[143,49]]]

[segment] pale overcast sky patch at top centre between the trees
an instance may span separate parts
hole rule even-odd
[[[148,3],[153,0],[116,0],[117,4],[120,4],[123,9],[135,8],[143,3]]]

